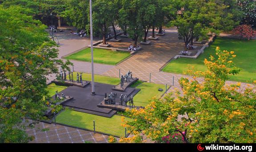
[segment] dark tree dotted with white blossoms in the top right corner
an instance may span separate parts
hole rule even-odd
[[[256,0],[236,0],[244,14],[243,23],[256,25]]]

